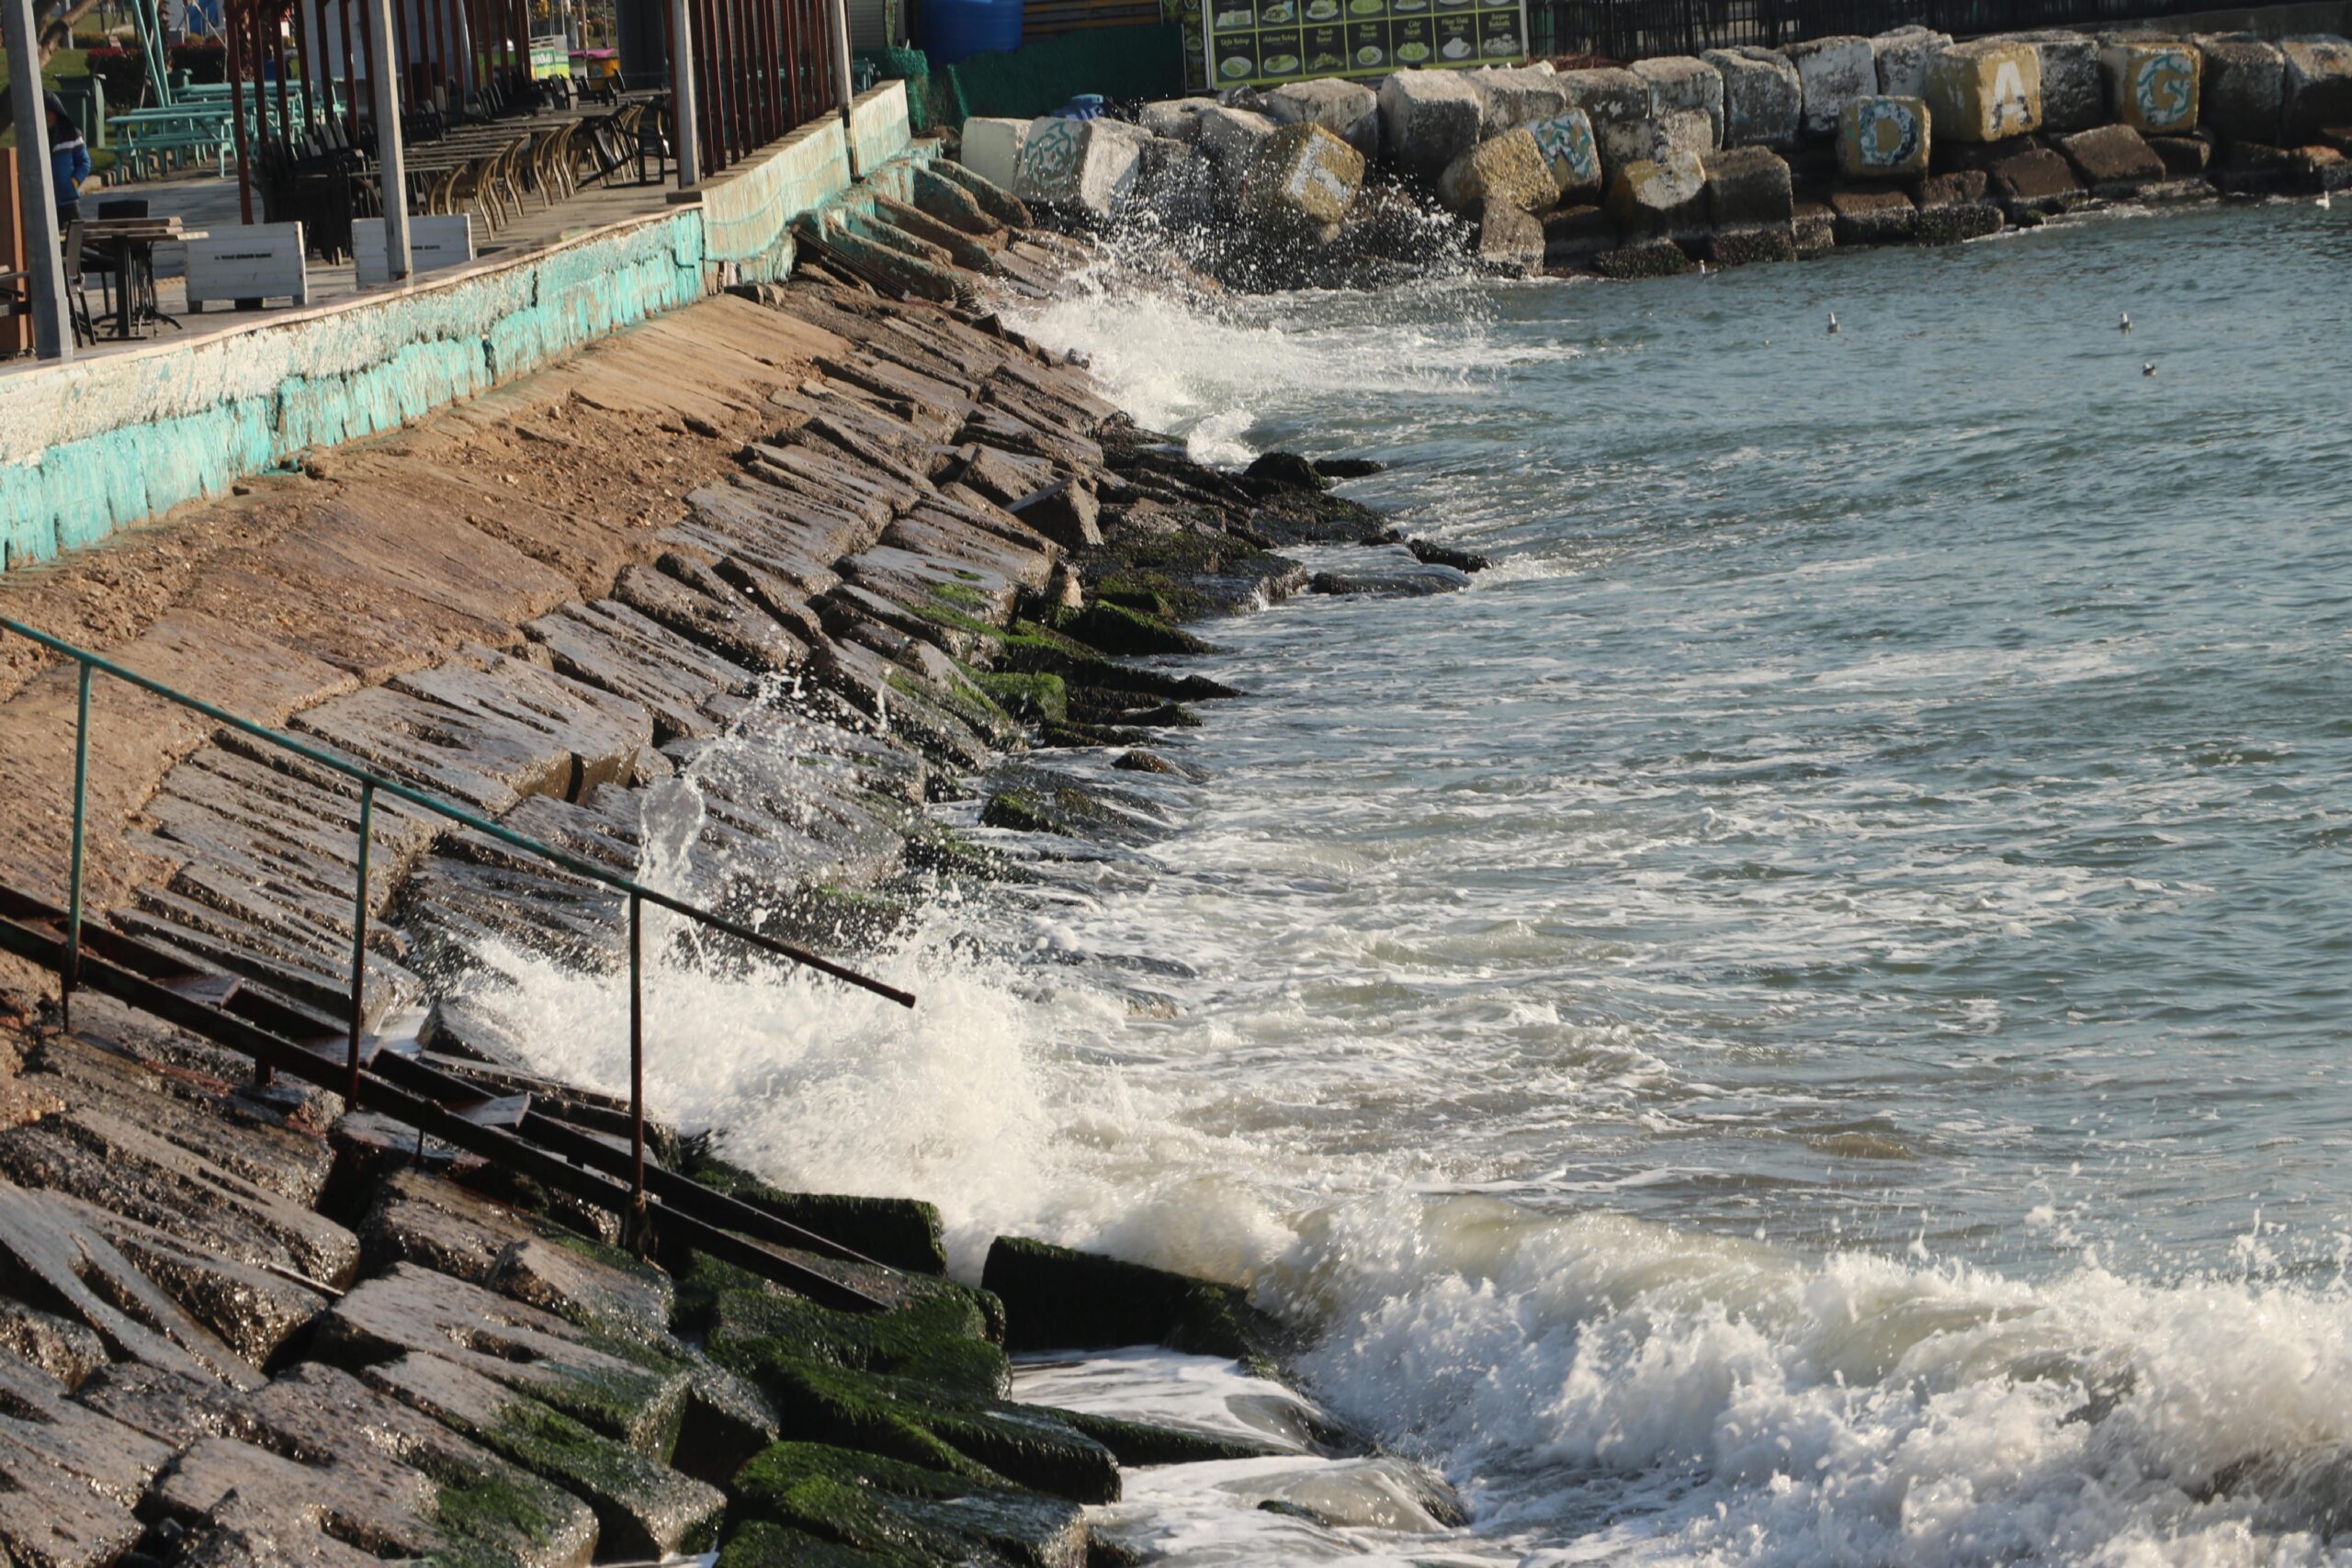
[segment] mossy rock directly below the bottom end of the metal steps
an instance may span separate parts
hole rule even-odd
[[[708,1349],[713,1361],[760,1385],[795,1361],[898,1373],[981,1399],[1011,1385],[1011,1366],[988,1342],[978,1305],[946,1293],[894,1312],[835,1312],[800,1295],[722,1291]]]

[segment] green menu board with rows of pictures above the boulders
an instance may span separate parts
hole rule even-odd
[[[1200,0],[1211,87],[1510,66],[1526,0]]]

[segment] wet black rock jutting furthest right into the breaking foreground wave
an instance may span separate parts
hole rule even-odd
[[[1167,1345],[1263,1371],[1284,1345],[1240,1286],[1049,1241],[997,1237],[981,1281],[1004,1300],[1011,1352]]]

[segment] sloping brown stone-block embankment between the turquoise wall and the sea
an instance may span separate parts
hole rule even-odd
[[[233,708],[261,705],[313,745],[623,875],[654,853],[649,792],[691,773],[694,842],[717,867],[694,896],[755,898],[764,931],[854,961],[943,879],[1018,875],[929,802],[978,797],[983,823],[1082,842],[1136,832],[1117,792],[1040,766],[1051,748],[1176,766],[1152,738],[1230,696],[1167,665],[1202,646],[1181,623],[1312,588],[1279,557],[1284,538],[1383,534],[1298,458],[1244,475],[1190,463],[988,315],[889,303],[842,275],[762,284],[717,310],[736,341],[739,313],[783,317],[807,360],[760,360],[776,374],[757,404],[673,414],[699,482],[675,522],[659,470],[677,463],[656,442],[635,458],[640,484],[590,508],[595,527],[548,538],[555,550],[529,548],[529,522],[456,548],[440,508],[416,515],[440,536],[412,534],[407,559],[346,555],[322,571],[310,545],[334,538],[315,529],[348,505],[346,480],[365,473],[374,489],[426,451],[480,456],[485,435],[508,463],[489,494],[555,515],[553,496],[586,477],[586,430],[569,421],[616,407],[609,376],[652,341],[640,334],[668,327],[654,324],[550,371],[553,402],[522,383],[395,442],[322,451],[254,487],[270,494],[9,574],[0,609],[71,604],[85,625],[127,630],[106,642],[136,668],[198,696],[221,696],[228,675]],[[468,527],[492,515],[475,508]],[[202,548],[172,557],[174,541]],[[532,564],[501,578],[492,545]],[[162,602],[148,588],[115,604],[111,548],[167,552]],[[1322,588],[1463,578],[1402,548],[1381,562],[1378,583]],[[564,578],[607,590],[574,599]],[[501,604],[485,592],[496,583],[527,588]],[[402,621],[280,616],[308,644],[287,661],[254,635],[266,621],[219,614],[223,595],[256,590],[318,595],[320,609],[369,592],[407,604]],[[176,663],[141,656],[155,649]],[[0,696],[28,785],[5,879],[40,893],[61,856],[31,785],[54,780],[61,686],[54,661],[19,663]],[[776,703],[786,691],[797,703]],[[115,729],[99,752],[111,788],[92,919],[327,1025],[350,943],[332,889],[348,898],[355,792],[120,691],[99,717],[101,736]],[[381,1048],[487,1095],[529,1095],[534,1114],[590,1135],[612,1135],[614,1117],[626,1128],[626,1100],[541,1074],[529,1041],[456,994],[492,947],[609,973],[619,910],[407,809],[379,804],[374,844],[365,1016]],[[54,983],[16,959],[5,978]],[[1117,1497],[1124,1465],[1369,1455],[1310,1406],[1251,1436],[1249,1420],[1004,1401],[1007,1354],[1021,1352],[1164,1342],[1270,1373],[1284,1333],[1232,1286],[1009,1239],[978,1288],[957,1286],[929,1204],[783,1192],[666,1126],[649,1128],[666,1168],[884,1265],[781,1248],[882,1309],[821,1307],[689,1251],[661,1213],[652,1267],[623,1246],[623,1215],[325,1088],[261,1084],[200,1020],[188,1032],[85,990],[61,1032],[42,990],[12,1004],[0,1100],[14,1269],[0,1375],[35,1410],[0,1443],[0,1474],[38,1500],[0,1500],[16,1556],[553,1566],[717,1547],[722,1563],[1077,1568],[1134,1561],[1082,1512]],[[61,1272],[59,1246],[87,1260],[80,1274]],[[1458,1523],[1435,1476],[1416,1488],[1414,1507]]]

